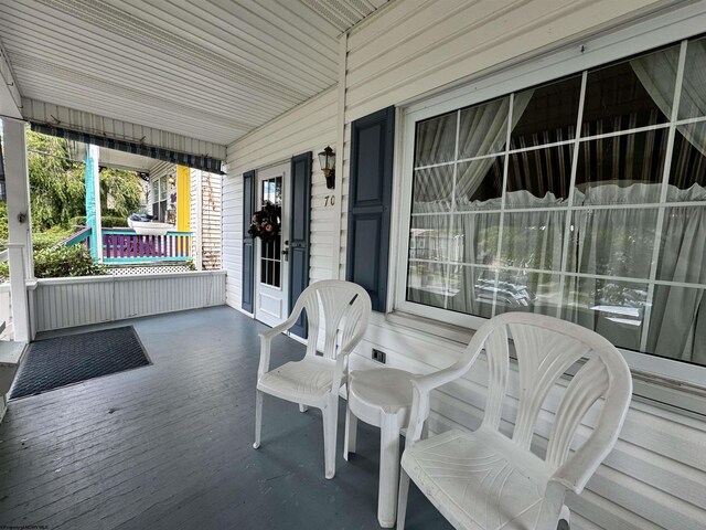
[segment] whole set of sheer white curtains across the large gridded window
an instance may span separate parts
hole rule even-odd
[[[667,117],[678,65],[675,50],[630,62]],[[678,117],[703,118],[706,40],[689,42],[687,51]],[[532,91],[515,95],[512,129],[532,95]],[[486,179],[502,174],[493,165],[502,161],[507,149],[509,109],[510,97],[504,97],[418,127],[415,165],[434,167],[415,170],[408,299],[481,317],[492,316],[493,300],[496,314],[556,315],[560,304],[563,318],[600,332],[619,347],[706,365],[706,297],[699,287],[706,284],[706,189],[702,186],[706,158],[688,166],[691,174],[667,184],[663,203],[662,182],[635,182],[622,173],[611,181],[579,186],[573,208],[568,197],[552,192],[535,197],[525,190],[503,190],[502,178],[490,187],[496,197],[486,199]],[[654,130],[660,132],[657,127]],[[680,125],[676,135],[688,141],[681,147],[691,152],[685,160],[699,158],[694,149],[706,157],[705,120]],[[632,156],[625,152],[631,144],[622,146],[622,152],[612,155],[616,160]],[[654,167],[649,152],[639,155],[641,163],[645,157],[648,169]],[[484,158],[453,163],[473,157]],[[570,168],[563,171],[543,174],[557,193],[568,182]],[[521,187],[517,183],[514,189]],[[479,200],[481,191],[485,200]],[[695,201],[700,204],[684,205]],[[616,208],[620,204],[645,208]],[[567,263],[561,263],[566,237]]]

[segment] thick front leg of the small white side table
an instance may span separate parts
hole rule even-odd
[[[383,416],[379,438],[377,521],[383,528],[393,528],[397,515],[397,483],[399,480],[399,422],[396,415]]]

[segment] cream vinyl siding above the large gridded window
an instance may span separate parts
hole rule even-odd
[[[678,2],[664,0],[406,0],[349,35],[346,117],[536,56]]]

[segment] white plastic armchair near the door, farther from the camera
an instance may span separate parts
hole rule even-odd
[[[304,358],[270,370],[272,338],[291,328],[304,309],[309,322]],[[260,446],[264,393],[299,403],[301,412],[306,412],[308,406],[315,406],[323,415],[325,476],[333,478],[339,390],[347,375],[347,356],[363,338],[370,314],[371,298],[361,286],[335,279],[317,282],[299,296],[287,320],[260,333],[253,447],[257,449]],[[324,330],[323,356],[317,354],[321,325]]]

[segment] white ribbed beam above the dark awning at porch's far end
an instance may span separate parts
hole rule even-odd
[[[28,121],[225,160],[225,146],[36,99],[22,98]]]

